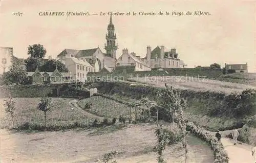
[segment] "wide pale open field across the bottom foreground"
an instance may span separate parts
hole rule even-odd
[[[3,162],[97,162],[105,153],[117,151],[117,162],[157,162],[155,125],[114,125],[92,130],[22,133],[1,130]],[[187,137],[187,162],[213,162],[213,152],[194,136]],[[166,148],[167,162],[182,162],[181,145]]]

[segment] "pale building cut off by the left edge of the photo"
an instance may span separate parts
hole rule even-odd
[[[0,74],[9,71],[12,65],[13,48],[0,47]]]

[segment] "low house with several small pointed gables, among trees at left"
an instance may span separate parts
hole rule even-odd
[[[40,72],[36,68],[35,72],[27,72],[27,76],[30,84],[60,83],[70,79],[70,73],[60,73],[58,69],[54,72]]]

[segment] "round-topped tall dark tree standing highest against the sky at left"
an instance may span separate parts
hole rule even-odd
[[[28,55],[33,58],[44,59],[46,56],[46,49],[44,45],[41,44],[33,44],[28,46]]]

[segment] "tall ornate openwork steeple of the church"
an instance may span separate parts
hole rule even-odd
[[[112,22],[112,14],[110,15],[110,24],[108,25],[108,33],[106,34],[105,48],[106,55],[116,58],[116,50],[118,45],[116,43],[115,26]]]

